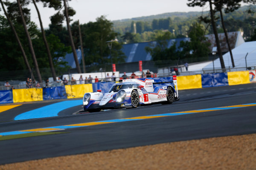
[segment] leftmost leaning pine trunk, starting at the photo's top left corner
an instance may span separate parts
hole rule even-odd
[[[12,24],[12,21],[11,21],[9,15],[8,15],[7,12],[6,12],[6,9],[4,8],[3,1],[0,0],[0,3],[1,3],[1,6],[2,6],[2,8],[3,8],[4,14],[6,15],[6,18],[7,18],[8,22],[9,22],[11,28],[12,28],[12,32],[13,32],[13,34],[15,35],[15,39],[17,40],[17,43],[18,43],[18,45],[19,45],[19,48],[20,48],[20,51],[21,51],[21,53],[22,53],[24,62],[25,62],[25,64],[26,64],[26,67],[29,69],[29,73],[33,76],[32,70],[31,70],[31,68],[30,68],[28,59],[27,59],[26,54],[25,54],[25,51],[24,51],[24,49],[23,49],[23,47],[22,47],[22,45],[21,45],[20,39],[19,39],[19,37],[18,37],[18,35],[17,35],[17,32],[16,32],[16,30],[15,30],[13,24]],[[32,78],[34,78],[34,77],[32,77]]]

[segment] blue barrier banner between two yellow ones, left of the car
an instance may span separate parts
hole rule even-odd
[[[67,99],[65,86],[43,88],[43,99]]]

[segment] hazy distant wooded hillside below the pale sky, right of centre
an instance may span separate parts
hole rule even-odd
[[[255,8],[256,6],[250,5],[235,9],[232,12],[222,12],[227,31],[241,31],[244,33],[245,40],[250,40],[250,37],[253,35],[253,30],[256,26]],[[224,10],[225,9],[222,8],[222,11]],[[189,28],[192,26],[193,23],[198,22],[198,17],[206,17],[208,15],[209,11],[193,13],[188,12],[184,14],[170,13],[169,15],[166,14],[166,18],[155,19],[155,16],[152,16],[152,18],[150,19],[150,17],[141,17],[143,20],[140,20],[140,18],[134,18],[134,20],[114,21],[113,23],[114,30],[119,34],[134,35],[134,40],[128,40],[127,43],[143,42],[152,40],[154,37],[151,37],[151,35],[154,34],[156,30],[168,30],[171,33],[173,33],[175,37],[178,38],[187,37]],[[216,18],[215,23],[217,26],[217,32],[224,33],[224,30],[221,26],[222,24],[220,18]],[[134,24],[136,25],[136,33],[134,31]],[[202,24],[204,25],[205,28],[207,28],[205,34],[214,33],[212,27],[207,27],[207,23],[203,22]]]

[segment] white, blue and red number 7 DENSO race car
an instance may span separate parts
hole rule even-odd
[[[175,87],[170,84],[172,82]],[[156,84],[161,85],[153,87]],[[140,105],[154,103],[171,104],[179,100],[176,76],[173,76],[171,82],[154,82],[153,78],[123,79],[115,83],[108,93],[101,92],[97,90],[97,92],[84,94],[82,106],[84,111],[137,108]]]

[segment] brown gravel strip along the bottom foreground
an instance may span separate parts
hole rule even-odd
[[[256,170],[256,134],[60,156],[0,170]]]

